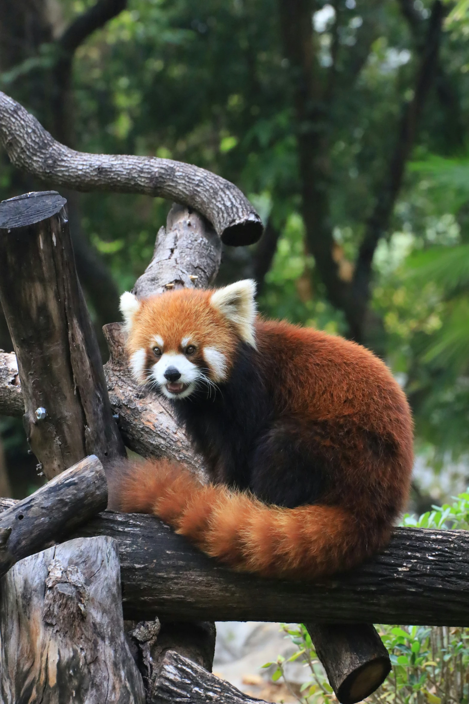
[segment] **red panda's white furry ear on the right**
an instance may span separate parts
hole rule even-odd
[[[254,322],[256,318],[256,284],[252,279],[237,281],[212,294],[210,303],[226,320],[236,327],[240,338],[252,347],[256,346]]]

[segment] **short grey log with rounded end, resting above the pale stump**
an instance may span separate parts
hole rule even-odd
[[[0,577],[15,562],[60,542],[108,503],[103,465],[91,455],[0,515]]]

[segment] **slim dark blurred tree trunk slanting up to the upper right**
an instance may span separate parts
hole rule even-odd
[[[389,171],[385,182],[379,189],[378,199],[366,225],[364,240],[356,260],[351,291],[354,308],[349,315],[349,325],[354,339],[362,337],[361,327],[370,295],[373,255],[378,241],[389,227],[394,204],[404,177],[406,162],[411,154],[423,107],[435,75],[443,18],[443,5],[439,0],[435,0],[428,23],[425,47],[416,75],[413,98],[410,103],[404,105]]]

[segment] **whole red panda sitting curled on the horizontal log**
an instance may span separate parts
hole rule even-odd
[[[153,513],[226,565],[319,579],[383,547],[413,464],[406,397],[354,342],[257,317],[254,282],[121,298],[134,377],[171,400],[211,483],[167,460],[110,472],[110,508]]]

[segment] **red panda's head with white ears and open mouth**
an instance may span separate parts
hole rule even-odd
[[[126,291],[120,309],[136,380],[156,384],[168,398],[224,382],[239,342],[255,347],[254,296],[251,279],[212,291],[167,291],[143,301]]]

